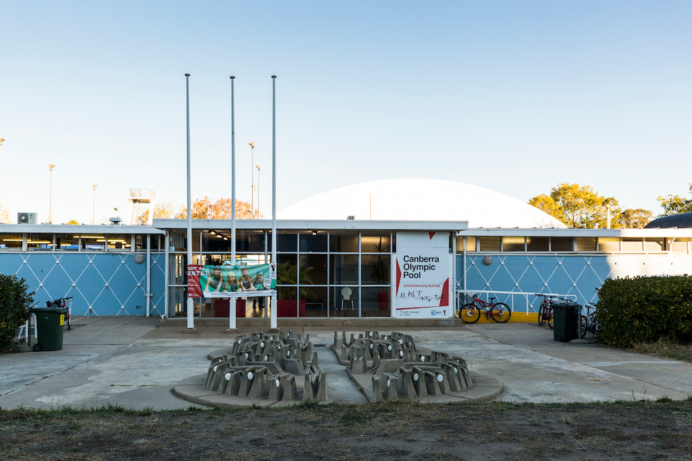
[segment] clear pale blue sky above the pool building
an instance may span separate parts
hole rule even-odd
[[[689,197],[690,1],[0,3],[0,205],[53,221],[127,211],[129,188],[237,198],[251,149],[271,217],[335,187],[439,178],[528,200],[591,185],[659,214]],[[255,182],[257,179],[255,179]],[[455,200],[439,197],[430,200]],[[255,198],[257,200],[257,198]],[[463,218],[460,216],[459,218]]]

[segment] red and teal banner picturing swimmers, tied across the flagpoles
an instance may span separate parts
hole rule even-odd
[[[245,298],[276,294],[276,265],[188,265],[191,297]]]

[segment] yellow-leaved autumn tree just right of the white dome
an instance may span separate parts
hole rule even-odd
[[[529,205],[545,211],[574,228],[605,227],[610,205],[611,226],[618,227],[620,208],[614,197],[599,195],[591,186],[561,182],[550,191],[529,200]]]

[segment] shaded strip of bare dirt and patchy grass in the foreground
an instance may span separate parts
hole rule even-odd
[[[692,399],[0,410],[2,460],[689,460]]]

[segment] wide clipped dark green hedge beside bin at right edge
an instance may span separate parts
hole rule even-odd
[[[692,341],[692,276],[607,279],[597,303],[601,344]]]

